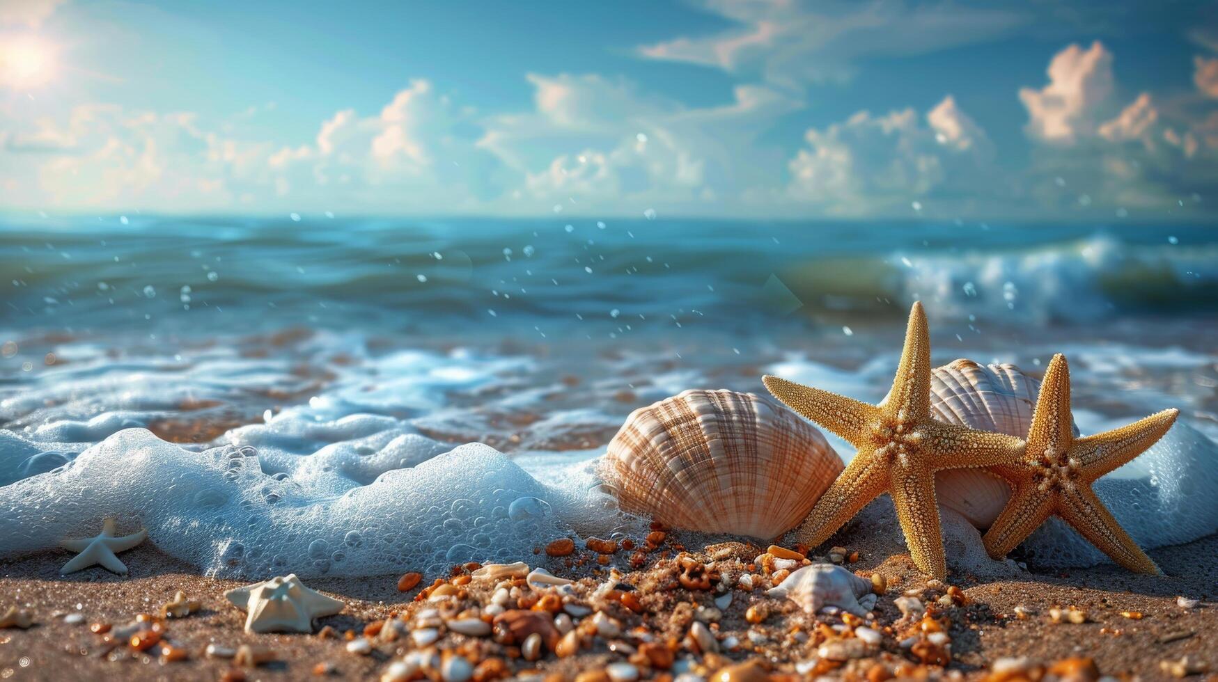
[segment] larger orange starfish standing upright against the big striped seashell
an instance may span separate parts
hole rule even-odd
[[[934,473],[1015,464],[1023,457],[1019,438],[931,418],[931,334],[921,303],[914,303],[910,311],[893,390],[878,406],[776,376],[765,376],[762,381],[788,407],[859,448],[795,533],[798,542],[814,547],[887,492],[914,563],[943,578],[948,565],[934,498]]]

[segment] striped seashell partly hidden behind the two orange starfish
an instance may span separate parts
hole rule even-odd
[[[1013,364],[957,359],[931,371],[931,415],[948,424],[1024,438],[1039,392],[1040,381]],[[978,529],[988,529],[1011,497],[1010,486],[984,469],[939,471],[934,487],[939,504]]]

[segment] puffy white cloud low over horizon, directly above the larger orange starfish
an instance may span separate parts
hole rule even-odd
[[[977,190],[990,173],[985,133],[945,97],[926,121],[912,108],[811,128],[788,167],[788,195],[833,214],[866,216]]]

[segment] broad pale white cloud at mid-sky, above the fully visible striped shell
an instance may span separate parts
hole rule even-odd
[[[706,212],[781,183],[758,136],[797,102],[756,85],[689,108],[598,76],[531,74],[536,111],[495,117],[482,146],[525,175],[519,200],[582,209]]]

